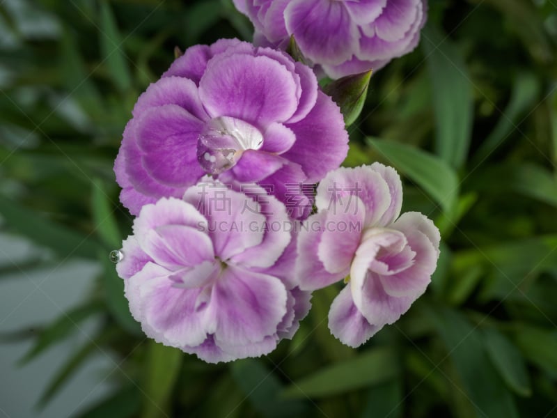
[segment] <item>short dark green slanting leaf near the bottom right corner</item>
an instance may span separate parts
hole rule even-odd
[[[507,386],[520,396],[530,396],[530,378],[519,350],[494,328],[483,330],[483,342],[487,355]]]

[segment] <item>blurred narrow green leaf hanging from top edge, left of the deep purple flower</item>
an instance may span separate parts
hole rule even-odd
[[[130,69],[127,66],[118,26],[107,0],[100,3],[100,49],[106,60],[113,82],[120,91],[132,86]]]

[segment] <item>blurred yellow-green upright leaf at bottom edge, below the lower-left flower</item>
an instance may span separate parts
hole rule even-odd
[[[182,359],[183,353],[178,348],[149,341],[141,417],[170,415],[167,410],[168,403],[171,400],[174,383],[180,374]]]

